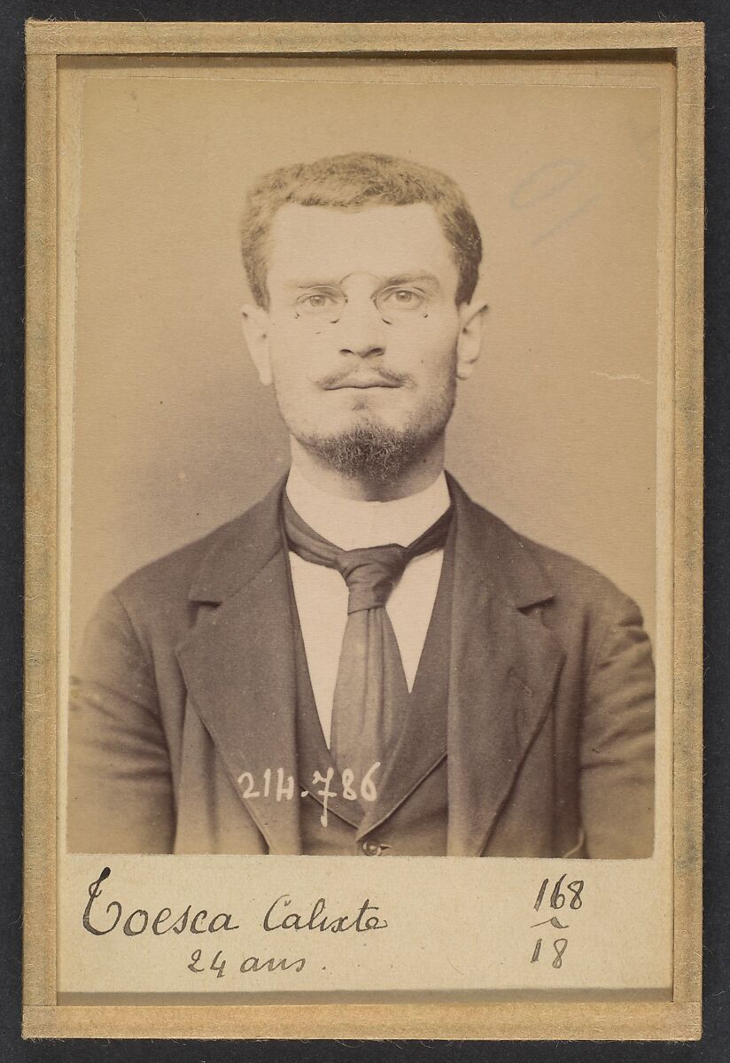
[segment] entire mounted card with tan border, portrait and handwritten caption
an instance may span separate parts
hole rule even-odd
[[[701,28],[28,83],[26,1035],[699,1036]]]

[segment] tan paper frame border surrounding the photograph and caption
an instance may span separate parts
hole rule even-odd
[[[62,55],[670,55],[677,71],[674,998],[476,1003],[56,1005],[56,85]],[[701,23],[27,23],[26,1037],[694,1040],[700,1036]]]

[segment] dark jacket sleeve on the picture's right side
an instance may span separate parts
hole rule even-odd
[[[630,598],[614,590],[588,674],[580,731],[585,856],[651,856],[655,681],[648,636]]]

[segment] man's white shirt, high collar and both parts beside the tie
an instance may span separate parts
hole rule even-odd
[[[395,542],[408,546],[451,505],[443,473],[425,491],[392,502],[362,502],[327,494],[292,466],[287,496],[302,520],[340,550],[361,550]],[[289,553],[309,678],[329,745],[333,697],[350,592],[337,569]],[[441,576],[443,550],[414,557],[393,588],[386,610],[401,651],[408,689],[415,680]]]

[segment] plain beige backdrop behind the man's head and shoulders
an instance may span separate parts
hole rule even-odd
[[[608,575],[652,631],[660,94],[526,70],[492,83],[475,64],[424,62],[88,71],[64,249],[77,261],[72,659],[103,591],[287,468],[242,340],[241,204],[273,167],[349,151],[442,169],[481,230],[490,309],[448,469],[512,527]]]

